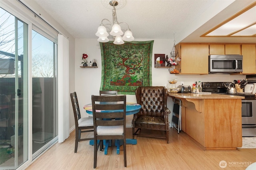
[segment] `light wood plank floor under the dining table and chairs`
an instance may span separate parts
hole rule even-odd
[[[93,146],[88,141],[78,144],[74,153],[74,131],[63,143],[57,143],[27,170],[90,170],[93,169]],[[131,128],[127,129],[127,138],[132,138]],[[244,170],[256,162],[256,149],[238,149],[233,151],[204,151],[188,135],[170,129],[167,144],[164,139],[136,137],[137,145],[127,145],[127,168],[124,168],[123,149],[116,154],[112,145],[108,154],[98,150],[97,168],[100,170],[223,170],[219,163],[227,162],[224,170]],[[243,165],[247,164],[247,165]]]

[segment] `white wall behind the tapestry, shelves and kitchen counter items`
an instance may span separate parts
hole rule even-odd
[[[136,41],[150,41],[151,39],[140,39]],[[192,84],[196,81],[220,81],[226,82],[234,80],[243,80],[243,75],[229,75],[229,74],[209,74],[209,75],[176,75],[170,74],[168,68],[154,68],[154,54],[165,54],[170,58],[170,52],[173,47],[172,39],[155,39],[152,51],[152,86],[165,86],[170,87],[168,80],[178,78],[177,86],[180,82],[184,85]],[[96,59],[98,68],[80,68],[82,66],[82,54],[88,55],[88,63]],[[193,67],[193,66],[192,66]],[[195,68],[196,69],[196,68]],[[75,39],[75,90],[78,95],[80,111],[82,117],[87,117],[88,114],[83,109],[85,104],[91,103],[91,95],[98,95],[101,83],[101,52],[100,43],[97,39]],[[126,95],[127,101],[136,102],[135,95]],[[168,98],[168,108],[172,109],[172,100]],[[132,115],[127,117],[128,126],[131,125]]]

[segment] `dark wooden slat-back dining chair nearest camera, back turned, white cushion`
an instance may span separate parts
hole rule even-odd
[[[92,95],[94,123],[94,168],[97,166],[97,151],[103,140],[123,140],[124,167],[126,167],[126,95]],[[97,141],[99,140],[98,144]]]

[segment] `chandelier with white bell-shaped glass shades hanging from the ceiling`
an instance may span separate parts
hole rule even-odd
[[[98,41],[102,42],[102,43],[106,43],[109,41],[109,39],[108,39],[109,34],[107,32],[106,25],[111,25],[111,27],[112,27],[110,35],[113,35],[113,37],[115,39],[114,44],[120,45],[120,44],[124,44],[124,41],[133,41],[134,37],[132,36],[132,31],[130,30],[129,25],[125,22],[118,23],[118,21],[117,21],[115,6],[118,5],[118,2],[115,0],[111,0],[109,2],[109,4],[110,4],[110,6],[113,7],[113,10],[112,10],[113,23],[111,23],[108,19],[103,19],[101,21],[101,24],[98,27],[98,31],[95,34],[99,37]],[[103,21],[107,21],[107,23],[104,24]],[[125,33],[123,33],[123,31],[120,27],[120,24],[126,24],[128,26]],[[121,35],[123,35],[123,34],[124,34],[124,36],[121,37]]]

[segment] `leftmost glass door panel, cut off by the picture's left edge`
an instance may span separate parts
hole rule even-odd
[[[28,160],[28,25],[0,8],[0,167]]]

